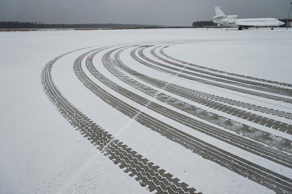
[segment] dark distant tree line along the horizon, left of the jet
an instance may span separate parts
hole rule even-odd
[[[41,22],[0,22],[0,29],[46,29],[46,28],[133,28],[161,27],[145,24],[43,24]]]

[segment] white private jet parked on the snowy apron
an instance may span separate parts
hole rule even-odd
[[[258,27],[281,26],[284,22],[280,22],[275,18],[251,18],[251,19],[237,19],[237,15],[225,15],[220,9],[220,6],[215,7],[216,15],[211,17],[216,26],[220,27],[238,27],[239,30]]]

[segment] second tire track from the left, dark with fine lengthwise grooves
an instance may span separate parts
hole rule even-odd
[[[88,58],[88,60],[92,58],[92,55],[90,55],[89,57],[90,58]],[[102,59],[103,63],[106,63],[106,60],[107,59],[103,58]],[[94,83],[91,79],[89,79],[88,76],[86,76],[86,74],[82,70],[81,61],[79,58],[77,58],[77,60],[74,63],[74,72],[77,75],[78,79],[89,90],[91,90],[95,95],[103,99],[107,104],[113,106],[114,108],[117,108],[125,115],[128,115],[129,117],[147,126],[148,128],[157,131],[159,134],[165,136],[166,138],[177,143],[180,143],[187,149],[191,149],[193,152],[203,156],[204,158],[214,161],[219,165],[222,165],[225,168],[228,168],[278,193],[292,191],[291,179],[288,179],[287,177],[267,170],[261,166],[253,164],[240,157],[230,154],[222,149],[219,149],[213,145],[210,145],[204,141],[194,138],[193,136],[190,136],[189,134],[186,134],[183,131],[171,127],[151,117],[150,115],[147,115],[144,112],[126,104],[117,97],[109,94],[108,92],[100,88],[100,86]],[[105,79],[105,77],[102,74],[100,74],[100,72],[95,71],[94,73],[96,78],[99,79],[99,81],[102,81],[103,83],[109,83]],[[112,86],[110,86],[110,88],[112,88]]]

